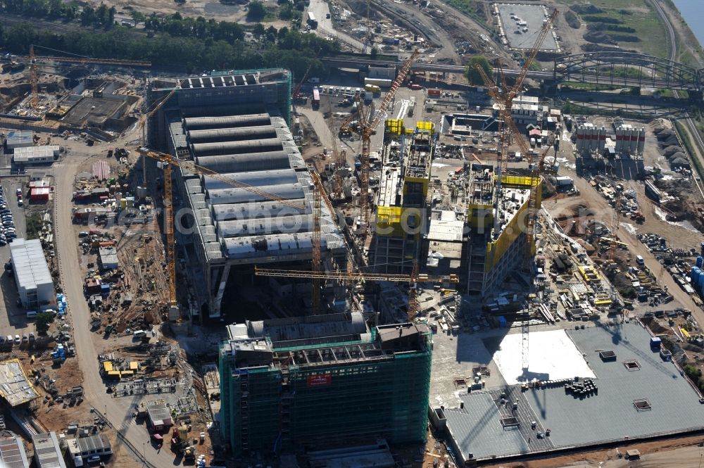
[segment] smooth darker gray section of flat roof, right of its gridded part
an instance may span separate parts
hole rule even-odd
[[[582,400],[563,388],[525,393],[539,420],[552,429],[555,445],[704,428],[704,405],[698,394],[674,363],[650,350],[650,334],[638,322],[567,334],[586,353],[599,393]],[[615,362],[603,362],[597,350],[614,351]],[[629,371],[626,360],[636,360],[640,369]],[[643,398],[652,409],[636,411],[634,400]]]

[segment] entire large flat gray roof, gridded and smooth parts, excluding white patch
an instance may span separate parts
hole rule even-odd
[[[555,383],[524,392],[520,386],[509,386],[461,395],[464,408],[446,409],[445,415],[465,460],[470,453],[478,459],[501,458],[704,429],[698,392],[673,362],[650,350],[650,334],[639,322],[567,330],[567,335],[596,374],[598,391],[577,397]],[[613,351],[616,360],[603,362],[599,358],[603,350]],[[635,365],[629,369],[626,362]],[[501,424],[502,415],[514,415],[501,405],[501,391],[508,391],[508,400],[519,405],[517,429]],[[637,410],[638,400],[649,409]],[[532,421],[537,422],[534,430]],[[536,432],[546,428],[551,435],[536,439]]]

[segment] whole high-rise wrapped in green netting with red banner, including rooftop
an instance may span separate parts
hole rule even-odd
[[[426,439],[425,324],[360,312],[246,322],[220,347],[220,430],[235,454]]]

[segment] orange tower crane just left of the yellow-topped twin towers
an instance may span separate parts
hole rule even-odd
[[[358,126],[356,131],[362,137],[362,151],[360,153],[360,163],[362,164],[362,167],[360,169],[359,178],[361,182],[360,210],[362,220],[365,224],[365,229],[363,229],[362,234],[363,240],[366,239],[367,227],[369,226],[369,153],[372,134],[375,132],[375,128],[377,127],[377,125],[379,125],[379,122],[382,120],[384,113],[386,113],[386,108],[389,107],[389,104],[394,99],[394,96],[396,95],[396,90],[398,90],[398,87],[401,86],[403,80],[406,80],[406,76],[408,75],[410,66],[413,65],[413,63],[417,60],[418,56],[420,56],[420,52],[418,51],[418,49],[415,49],[415,51],[413,51],[413,53],[410,55],[410,58],[403,62],[403,65],[401,65],[401,70],[398,71],[398,75],[396,75],[394,81],[391,82],[391,88],[389,89],[389,92],[386,93],[386,96],[384,96],[384,99],[382,99],[382,103],[379,104],[379,107],[370,118],[364,113],[364,105],[362,99],[359,95],[356,96],[358,113]],[[340,132],[350,132],[351,130],[353,130],[350,127],[353,118],[354,115],[352,115],[350,118],[345,120],[345,122],[343,122],[342,126],[340,127]]]

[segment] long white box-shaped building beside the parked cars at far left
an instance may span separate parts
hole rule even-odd
[[[20,301],[25,308],[37,308],[56,301],[54,281],[49,266],[46,265],[42,243],[15,239],[10,244],[10,255],[15,270],[15,283]]]

